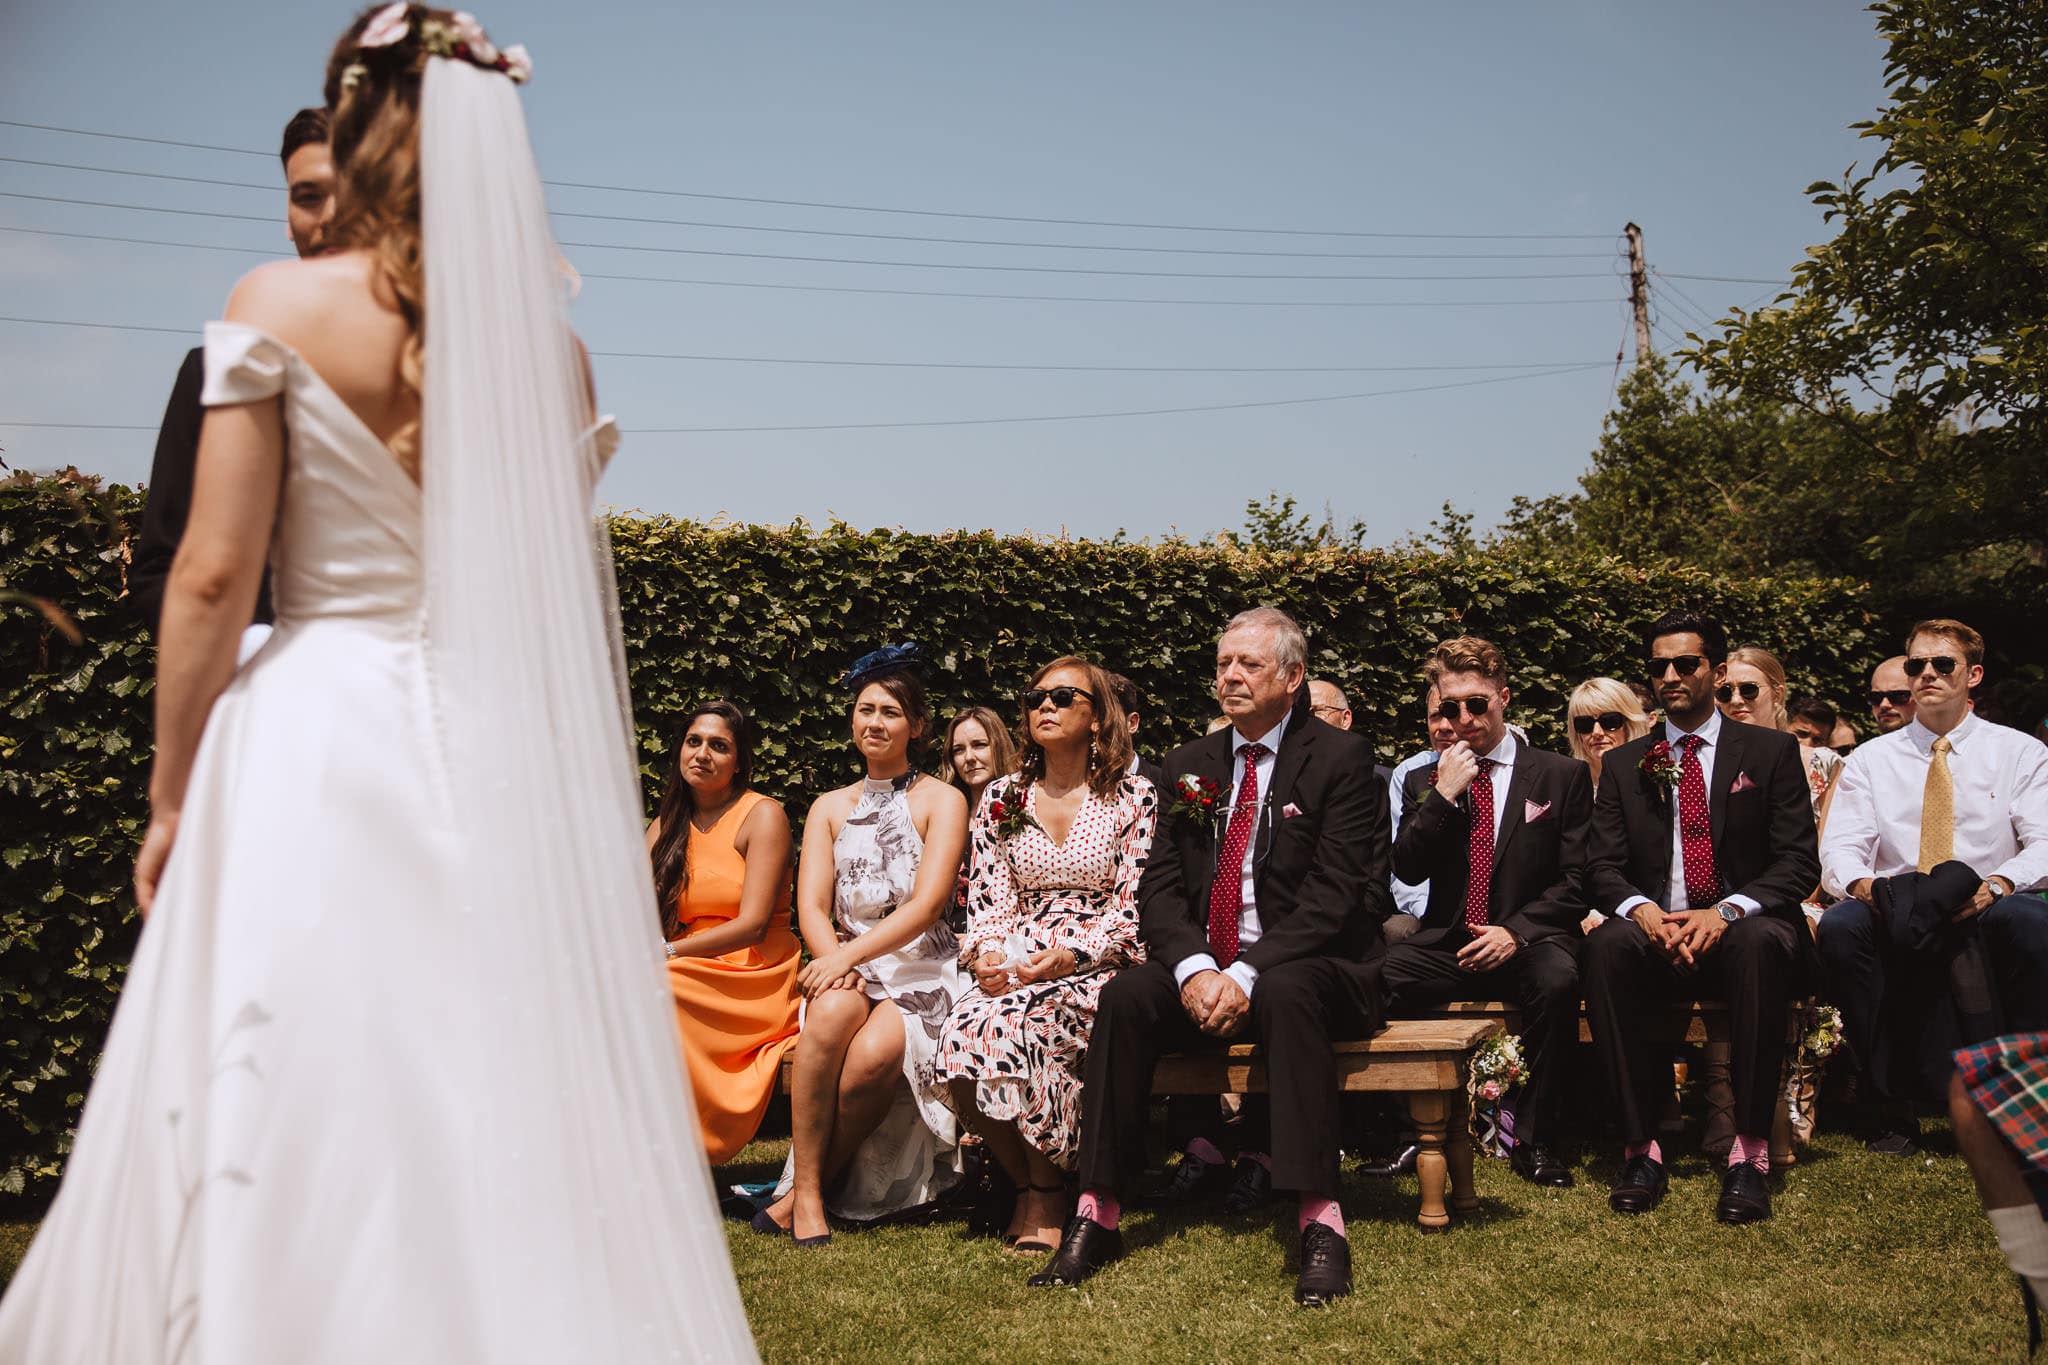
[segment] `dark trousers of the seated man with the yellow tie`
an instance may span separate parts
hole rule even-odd
[[[2048,1029],[2048,902],[1999,896],[1976,917],[1997,984],[2001,1027]],[[1841,1007],[1841,1033],[1874,1099],[1937,1101],[1964,1038],[1946,958],[1898,950],[1876,911],[1843,900],[1817,931],[1821,982]]]

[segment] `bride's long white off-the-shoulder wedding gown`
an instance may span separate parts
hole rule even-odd
[[[475,966],[479,943],[520,945],[455,876],[420,487],[285,344],[209,323],[205,366],[207,405],[283,395],[276,630],[207,718],[63,1185],[0,1302],[0,1361],[694,1359],[653,1330],[666,1310],[618,1236],[649,1230],[647,1263],[700,1275],[707,1332],[739,1314],[682,1085],[608,1117],[618,1058],[512,1052],[532,1005]],[[551,796],[573,798],[532,794]],[[655,939],[639,980],[659,1025]],[[631,1009],[631,970],[526,976],[590,1015]],[[522,1136],[565,1124],[586,1169],[537,1189]]]

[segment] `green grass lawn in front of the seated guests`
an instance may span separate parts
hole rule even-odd
[[[1292,1212],[1133,1214],[1133,1254],[1085,1289],[1026,1289],[1034,1261],[961,1224],[840,1232],[797,1250],[729,1224],[768,1361],[1985,1361],[2023,1359],[2019,1293],[1962,1160],[1909,1162],[1823,1134],[1755,1228],[1712,1222],[1718,1181],[1679,1158],[1647,1218],[1608,1212],[1614,1164],[1538,1191],[1483,1160],[1483,1209],[1413,1226],[1415,1181],[1346,1183],[1354,1297],[1300,1312]],[[768,1179],[758,1142],[725,1179]],[[0,1224],[0,1277],[31,1224]],[[686,1293],[686,1287],[678,1287]]]

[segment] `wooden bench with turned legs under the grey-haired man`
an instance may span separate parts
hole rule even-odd
[[[1405,1095],[1415,1124],[1415,1175],[1421,1181],[1423,1232],[1450,1226],[1450,1216],[1479,1207],[1473,1193],[1473,1134],[1466,1115],[1464,1068],[1473,1050],[1501,1031],[1493,1017],[1397,1019],[1364,1042],[1335,1044],[1337,1089]],[[1153,1095],[1260,1095],[1266,1064],[1251,1044],[1217,1052],[1176,1052],[1159,1058]],[[1444,1185],[1450,1183],[1446,1207]]]

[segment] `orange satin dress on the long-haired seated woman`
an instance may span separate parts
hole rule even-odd
[[[690,831],[690,884],[676,898],[684,939],[739,915],[748,870],[733,839],[762,800],[760,792],[748,792],[709,831]],[[754,948],[721,958],[668,960],[676,1031],[713,1164],[731,1160],[754,1140],[782,1056],[797,1044],[799,966],[797,935],[780,909]]]

